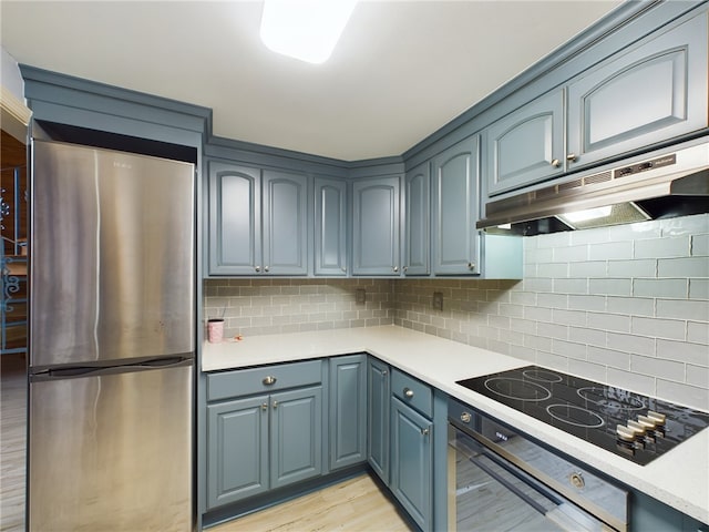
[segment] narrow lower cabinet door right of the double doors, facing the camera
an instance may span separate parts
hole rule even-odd
[[[330,358],[330,470],[367,461],[367,355]]]

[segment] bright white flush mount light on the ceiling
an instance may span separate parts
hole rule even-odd
[[[322,63],[356,4],[357,0],[265,0],[261,41],[274,52]]]

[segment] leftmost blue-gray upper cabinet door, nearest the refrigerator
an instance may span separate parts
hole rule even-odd
[[[209,165],[209,273],[254,275],[261,257],[260,171]]]

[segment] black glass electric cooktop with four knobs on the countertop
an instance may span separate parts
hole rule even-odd
[[[538,366],[458,383],[641,466],[709,427],[708,412]]]

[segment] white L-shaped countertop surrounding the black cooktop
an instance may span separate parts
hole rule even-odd
[[[465,378],[527,366],[531,362],[526,360],[403,327],[381,326],[256,336],[240,341],[205,344],[202,370],[236,369],[362,351],[709,523],[709,429],[647,466],[638,466],[455,383]]]

